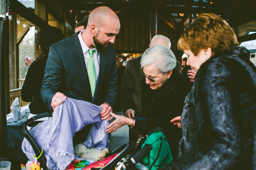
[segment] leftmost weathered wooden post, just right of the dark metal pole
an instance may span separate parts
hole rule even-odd
[[[16,13],[12,13],[12,20],[9,20],[9,72],[10,90],[17,88],[16,77]]]

